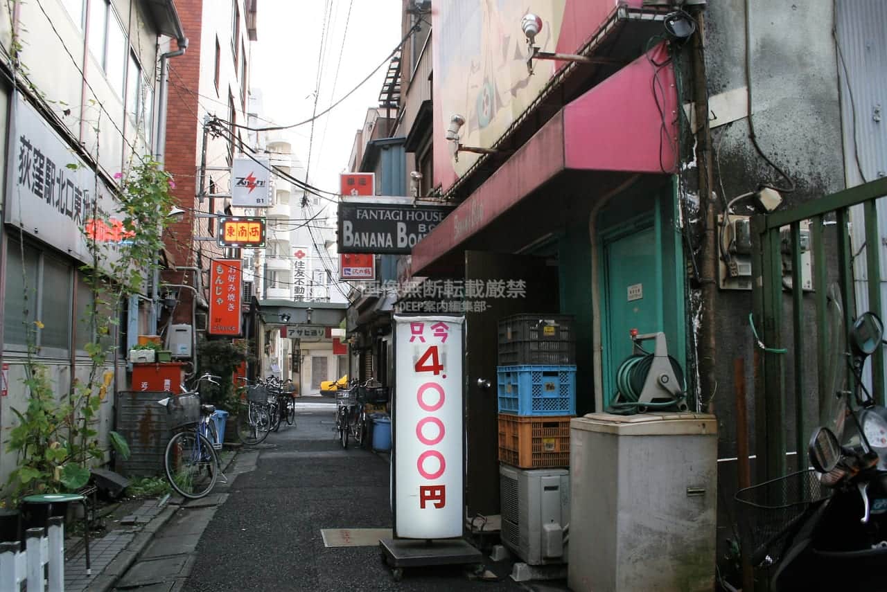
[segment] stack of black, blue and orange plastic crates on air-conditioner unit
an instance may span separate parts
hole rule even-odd
[[[498,323],[498,459],[521,469],[569,466],[576,415],[576,336],[569,315]]]

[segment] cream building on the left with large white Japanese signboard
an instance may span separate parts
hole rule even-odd
[[[184,49],[188,39],[172,2],[48,0],[13,3],[3,12],[0,425],[7,433],[16,421],[12,409],[27,407],[29,333],[32,362],[43,365],[59,398],[89,379],[85,348],[98,337],[85,320],[90,288],[82,266],[93,262],[87,237],[114,256],[121,236],[99,227],[122,220],[114,198],[120,179],[133,163],[158,156],[156,126],[164,109],[156,82],[164,59],[159,48]],[[90,217],[94,206],[107,216]],[[103,448],[114,424],[113,394],[128,383],[127,344],[149,332],[152,295],[145,285],[131,303],[120,303],[120,323],[100,339],[113,351],[99,377],[112,393],[96,423]],[[112,316],[117,310],[107,308]],[[6,441],[0,449],[4,483],[17,463]]]

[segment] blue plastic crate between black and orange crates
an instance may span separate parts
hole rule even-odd
[[[498,366],[496,374],[499,413],[576,415],[576,366]]]

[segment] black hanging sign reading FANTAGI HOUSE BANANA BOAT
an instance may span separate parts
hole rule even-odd
[[[405,198],[343,198],[339,204],[339,253],[409,254],[451,210],[447,206],[415,206],[412,199]]]

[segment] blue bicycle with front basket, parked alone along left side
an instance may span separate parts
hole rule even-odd
[[[207,380],[218,385],[217,378],[204,374],[197,383]],[[181,394],[157,401],[167,409],[176,430],[167,442],[163,469],[169,485],[179,495],[196,500],[212,491],[220,474],[224,479],[214,446],[219,441],[216,425],[210,419],[216,407],[201,404],[197,389],[189,391],[183,386],[182,390]]]

